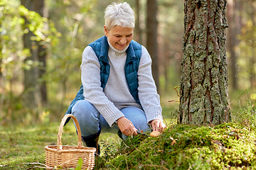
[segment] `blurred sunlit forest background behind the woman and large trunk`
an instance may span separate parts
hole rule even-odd
[[[60,121],[80,88],[82,51],[104,35],[104,11],[112,2],[122,1],[0,0],[0,125]],[[157,60],[151,57],[158,69],[153,71],[168,118],[178,108],[178,102],[169,101],[178,101],[183,0],[127,2],[137,18],[134,40],[156,53]],[[157,22],[147,20],[152,15]],[[228,0],[226,17],[229,95],[235,109],[247,98],[256,99],[256,0]],[[156,38],[149,28],[156,30]],[[154,41],[152,50],[149,42]]]

